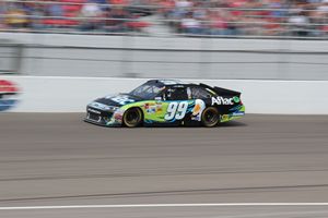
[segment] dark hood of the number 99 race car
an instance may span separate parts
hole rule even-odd
[[[129,94],[118,94],[118,95],[109,95],[103,98],[98,98],[94,100],[93,105],[98,104],[105,106],[121,107],[127,104],[137,102],[139,100],[142,99]]]

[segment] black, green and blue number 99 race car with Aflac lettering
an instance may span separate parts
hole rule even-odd
[[[212,128],[244,114],[238,92],[202,83],[150,80],[130,93],[90,102],[84,121],[104,126]]]

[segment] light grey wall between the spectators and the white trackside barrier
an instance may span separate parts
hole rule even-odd
[[[0,33],[1,39],[24,46],[23,75],[328,81],[326,40]]]

